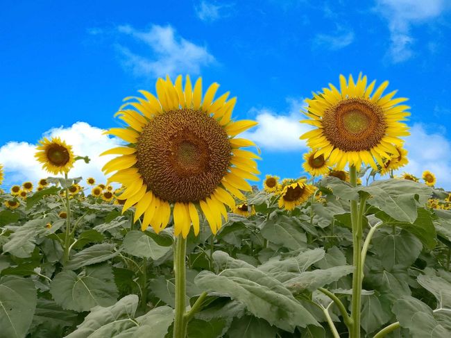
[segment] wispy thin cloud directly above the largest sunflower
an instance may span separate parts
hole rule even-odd
[[[118,45],[124,65],[137,76],[165,76],[180,73],[199,74],[201,67],[214,62],[206,47],[198,46],[178,35],[171,26],[153,25],[148,31],[132,26],[119,26],[119,33],[130,35],[151,49],[149,55],[139,55]]]

